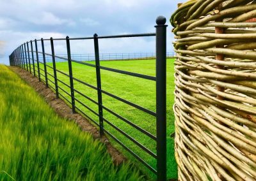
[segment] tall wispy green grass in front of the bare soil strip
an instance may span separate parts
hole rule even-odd
[[[143,180],[0,65],[0,180]]]

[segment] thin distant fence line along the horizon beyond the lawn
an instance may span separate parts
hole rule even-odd
[[[56,54],[60,57],[67,57],[67,54]],[[168,59],[174,58],[175,52],[167,52],[166,57]],[[156,53],[110,53],[110,54],[99,54],[100,61],[129,61],[129,60],[149,60],[156,59]],[[71,54],[71,59],[76,61],[95,61],[95,54]],[[39,60],[43,60],[40,56]],[[46,62],[51,62],[52,57],[46,56]],[[63,62],[63,59],[56,59],[56,62]]]

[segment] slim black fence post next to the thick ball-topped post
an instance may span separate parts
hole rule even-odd
[[[95,52],[95,64],[96,64],[96,76],[97,76],[100,136],[102,136],[104,134],[104,129],[103,129],[102,92],[101,92],[101,80],[100,80],[100,57],[99,57],[99,41],[98,41],[98,35],[96,33],[93,35],[93,40],[94,40],[94,52]]]

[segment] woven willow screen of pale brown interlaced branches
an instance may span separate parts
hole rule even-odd
[[[256,180],[256,4],[191,0],[171,23],[179,180]]]

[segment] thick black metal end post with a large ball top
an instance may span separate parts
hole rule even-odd
[[[166,18],[156,19],[157,180],[166,180]]]

